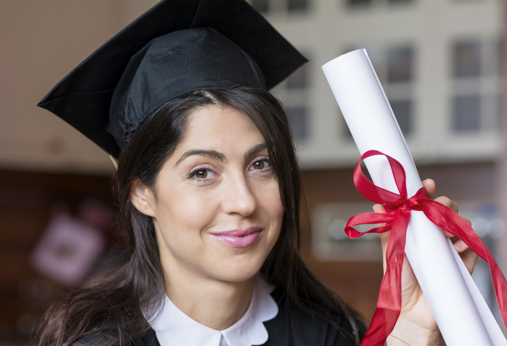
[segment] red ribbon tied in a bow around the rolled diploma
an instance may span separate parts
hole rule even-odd
[[[375,186],[361,169],[361,162],[374,155],[383,155],[389,160],[396,187],[400,194],[395,194]],[[380,285],[377,309],[373,315],[370,328],[361,342],[361,346],[383,346],[387,336],[394,328],[402,308],[402,266],[405,253],[405,238],[411,210],[422,210],[435,225],[459,237],[468,247],[474,250],[489,264],[496,299],[500,307],[504,324],[507,327],[507,282],[488,248],[472,227],[454,210],[428,198],[424,188],[407,198],[405,170],[400,162],[377,150],[370,150],[361,156],[354,170],[354,184],[357,190],[369,200],[383,204],[387,213],[364,213],[354,215],[345,226],[345,233],[350,238],[357,238],[365,233],[384,233],[391,231],[386,250],[387,268]],[[365,224],[384,224],[367,232],[358,232],[352,226]]]

